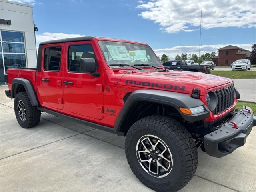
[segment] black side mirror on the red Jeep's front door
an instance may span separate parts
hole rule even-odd
[[[95,73],[97,70],[96,61],[93,58],[81,58],[80,59],[81,72],[90,73],[94,77],[99,77],[100,73]]]

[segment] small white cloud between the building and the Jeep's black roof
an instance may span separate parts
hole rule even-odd
[[[44,42],[49,40],[55,40],[55,39],[65,39],[65,38],[71,38],[71,37],[82,37],[85,35],[80,34],[66,34],[66,33],[43,33],[43,34],[36,34],[36,42]]]

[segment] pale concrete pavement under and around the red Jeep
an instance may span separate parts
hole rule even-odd
[[[13,100],[0,87],[0,191],[151,191],[130,170],[124,138],[42,113],[21,128]],[[256,127],[246,144],[223,158],[198,149],[198,168],[182,191],[256,191]]]

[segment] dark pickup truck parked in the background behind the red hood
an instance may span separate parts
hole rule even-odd
[[[164,68],[169,70],[194,71],[210,74],[210,67],[207,65],[188,65],[185,60],[168,60],[163,63]]]

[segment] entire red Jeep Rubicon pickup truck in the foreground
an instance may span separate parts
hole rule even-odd
[[[126,136],[136,177],[178,191],[194,176],[197,148],[222,157],[243,146],[256,118],[232,80],[166,70],[144,43],[79,37],[40,43],[36,68],[8,69],[6,95],[23,128],[41,112]]]

